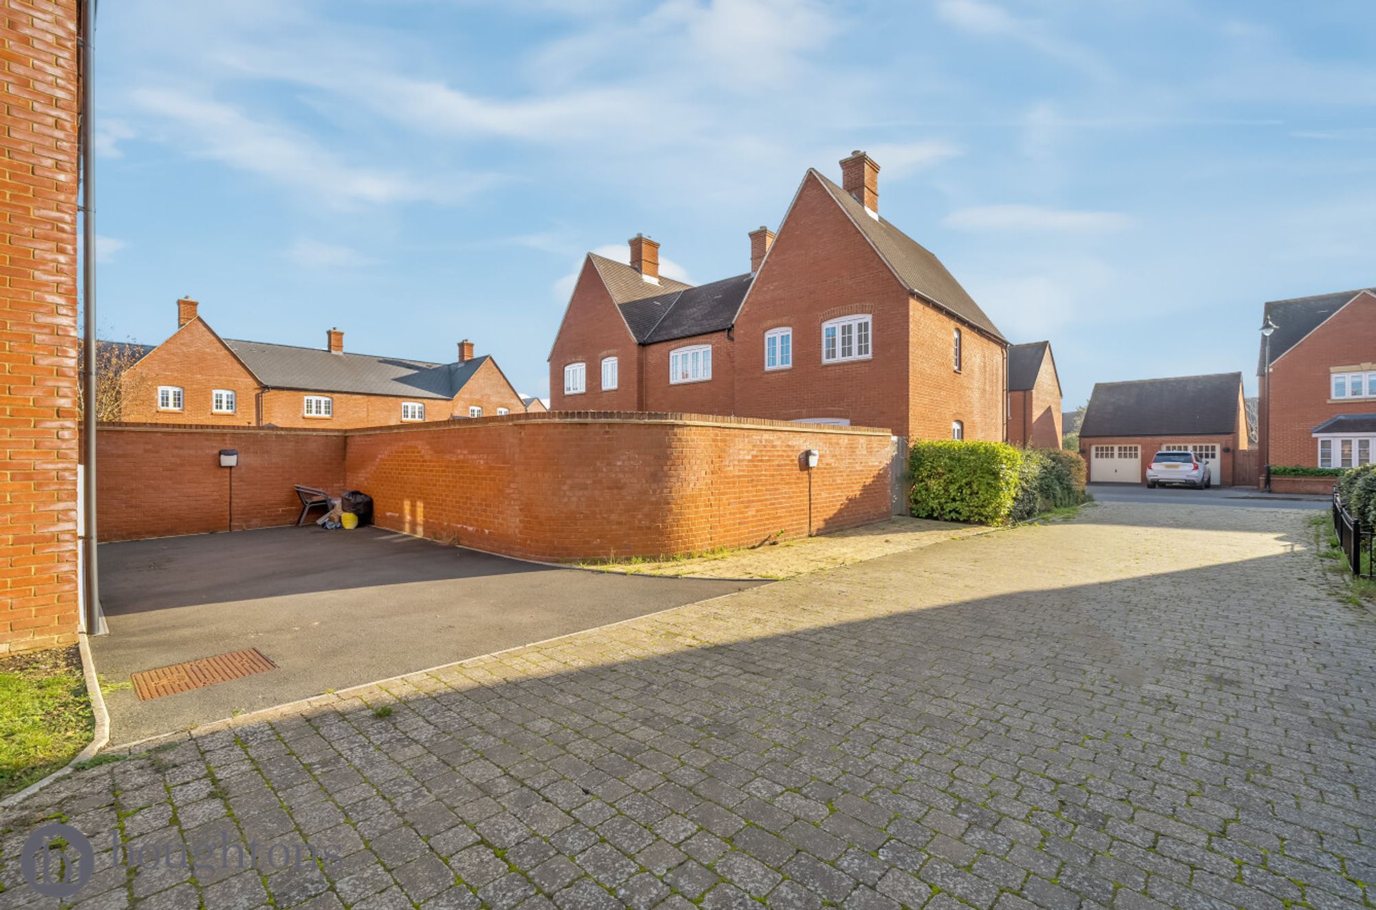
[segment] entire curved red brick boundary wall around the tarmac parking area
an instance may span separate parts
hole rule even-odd
[[[856,427],[557,412],[341,432],[107,424],[99,445],[102,540],[224,530],[220,447],[239,450],[235,529],[294,522],[292,485],[308,483],[370,494],[380,527],[527,559],[691,553],[889,516],[889,432]]]

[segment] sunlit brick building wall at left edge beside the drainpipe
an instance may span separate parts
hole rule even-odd
[[[0,21],[0,654],[77,629],[77,21]]]

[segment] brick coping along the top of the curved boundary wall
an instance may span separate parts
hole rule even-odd
[[[725,430],[771,430],[783,432],[837,434],[860,436],[890,436],[881,427],[837,427],[832,424],[804,424],[791,420],[766,420],[762,417],[727,417],[720,414],[692,414],[678,412],[637,412],[637,410],[550,410],[523,414],[493,414],[490,417],[464,417],[457,420],[417,421],[413,424],[389,424],[384,427],[354,427],[330,430],[326,427],[226,427],[219,424],[153,424],[153,423],[102,423],[98,430],[127,432],[248,432],[266,435],[310,435],[310,436],[354,436],[385,432],[420,432],[433,430],[458,430],[464,427],[484,427],[499,423],[561,423],[561,424],[677,424],[681,427],[721,427]]]

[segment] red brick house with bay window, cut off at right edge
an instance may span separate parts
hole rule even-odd
[[[1258,357],[1259,446],[1273,465],[1346,468],[1376,449],[1376,289],[1271,300]],[[1270,374],[1266,352],[1270,350]]]

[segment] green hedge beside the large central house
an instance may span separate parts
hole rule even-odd
[[[1002,442],[915,442],[908,461],[916,518],[1004,525],[1079,505],[1084,458],[1060,449]]]

